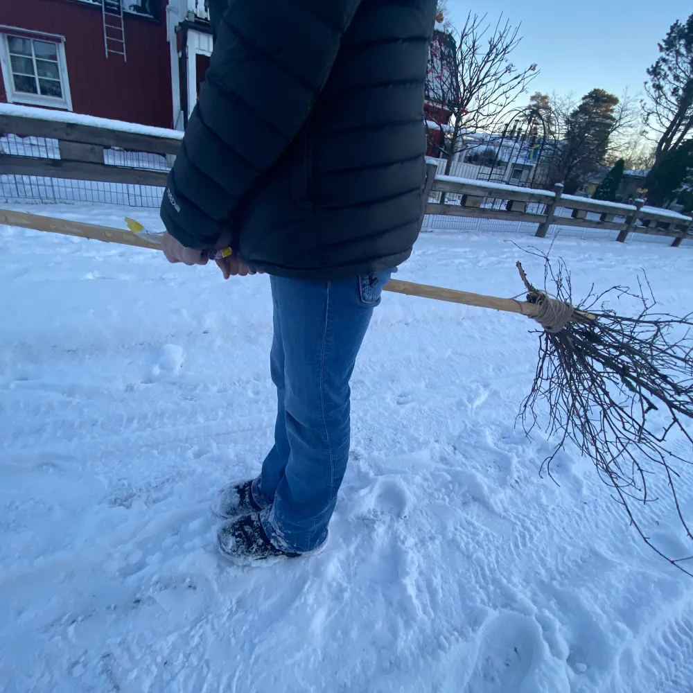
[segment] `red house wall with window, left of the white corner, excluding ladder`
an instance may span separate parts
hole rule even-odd
[[[3,0],[0,100],[171,126],[164,3],[123,0],[124,42],[100,1]],[[114,19],[111,19],[111,18]],[[109,34],[109,53],[105,34]],[[125,55],[119,54],[125,46]]]

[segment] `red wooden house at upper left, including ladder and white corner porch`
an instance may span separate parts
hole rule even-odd
[[[183,128],[211,55],[204,0],[1,0],[0,102]]]

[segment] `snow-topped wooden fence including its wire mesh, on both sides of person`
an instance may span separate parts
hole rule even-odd
[[[2,195],[32,200],[83,200],[158,207],[172,157],[182,134],[176,130],[0,105],[0,184]],[[678,246],[692,237],[693,219],[667,209],[616,204],[502,183],[437,175],[428,161],[431,218],[497,220],[534,225],[535,235],[550,227],[632,232],[673,238]],[[51,198],[52,195],[52,198]]]

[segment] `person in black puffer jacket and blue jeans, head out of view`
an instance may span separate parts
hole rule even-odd
[[[222,489],[236,563],[322,547],[349,456],[349,379],[421,228],[435,0],[210,0],[216,36],[168,177],[171,262],[270,275],[274,446]]]

